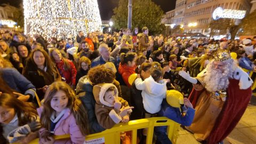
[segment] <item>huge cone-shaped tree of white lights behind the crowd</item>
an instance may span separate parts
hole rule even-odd
[[[25,34],[51,37],[75,37],[101,30],[97,0],[23,0]]]

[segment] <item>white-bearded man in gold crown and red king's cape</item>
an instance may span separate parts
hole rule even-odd
[[[187,129],[196,140],[209,144],[222,142],[235,128],[250,101],[253,83],[227,51],[216,50],[213,57],[195,78],[179,72],[194,86],[189,100],[196,113]]]

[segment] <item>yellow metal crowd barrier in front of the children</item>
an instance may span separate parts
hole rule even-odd
[[[100,133],[90,134],[86,136],[86,141],[93,139],[104,139],[105,143],[120,143],[120,132],[132,131],[132,143],[137,143],[137,130],[148,128],[146,143],[152,143],[154,126],[167,126],[167,134],[172,143],[176,143],[178,138],[178,131],[180,129],[180,124],[172,121],[166,117],[151,117],[143,118],[134,121],[129,121],[128,123],[120,123],[112,127],[111,129],[105,130]],[[58,135],[54,136],[55,140],[68,139],[69,135]],[[39,143],[39,139],[31,141],[31,144]]]

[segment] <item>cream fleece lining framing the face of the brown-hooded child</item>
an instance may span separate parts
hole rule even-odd
[[[99,99],[100,99],[100,102],[102,103],[102,105],[105,105],[105,106],[108,106],[108,107],[114,107],[114,105],[111,105],[110,103],[108,103],[107,101],[104,100],[104,95],[106,93],[106,91],[109,89],[109,87],[115,87],[115,97],[117,98],[118,97],[118,90],[116,88],[116,86],[114,84],[111,84],[111,83],[105,83],[101,86],[101,89],[100,89],[100,93],[99,93]]]

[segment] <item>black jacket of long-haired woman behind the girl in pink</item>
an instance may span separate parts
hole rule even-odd
[[[44,70],[42,70],[28,63],[27,68],[23,70],[23,75],[35,85],[40,100],[44,98],[42,87],[51,85],[55,81],[61,81],[58,69],[55,66],[52,69],[55,69],[56,73],[50,73],[49,68],[45,67]]]

